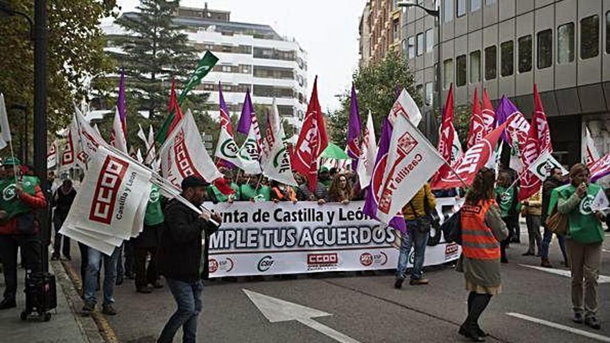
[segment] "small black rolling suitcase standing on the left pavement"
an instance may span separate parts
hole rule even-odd
[[[26,320],[32,313],[38,313],[38,315],[44,316],[44,322],[49,322],[51,319],[49,310],[57,308],[55,275],[28,272],[24,292],[26,292],[26,310],[21,312],[21,320]]]

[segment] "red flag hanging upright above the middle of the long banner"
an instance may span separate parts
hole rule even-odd
[[[315,191],[317,184],[317,159],[328,145],[329,139],[326,137],[322,109],[317,101],[316,76],[293,159],[293,169],[307,177],[308,186],[312,192]]]

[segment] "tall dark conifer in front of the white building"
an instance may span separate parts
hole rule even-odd
[[[126,13],[116,19],[126,33],[110,37],[120,53],[112,53],[125,67],[127,92],[139,109],[148,111],[155,127],[165,116],[168,89],[172,78],[186,82],[198,58],[189,44],[184,27],[174,24],[173,14],[179,1],[141,0],[139,12]],[[179,85],[177,85],[177,88]],[[204,104],[207,94],[191,94],[191,105]],[[183,104],[184,109],[189,104]],[[194,110],[193,107],[191,109]]]

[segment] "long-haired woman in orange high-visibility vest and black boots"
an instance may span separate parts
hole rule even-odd
[[[495,173],[482,168],[475,176],[462,207],[462,270],[468,294],[468,317],[460,335],[483,342],[487,333],[478,319],[491,296],[500,294],[500,241],[508,229],[495,200]]]

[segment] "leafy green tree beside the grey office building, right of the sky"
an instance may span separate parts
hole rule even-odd
[[[406,88],[417,105],[421,106],[421,95],[415,89],[414,78],[409,70],[406,58],[397,51],[390,51],[379,62],[372,62],[367,67],[354,73],[354,85],[358,91],[358,107],[360,121],[366,123],[369,110],[377,137],[381,131],[383,118],[390,113],[396,100],[397,86]],[[346,89],[341,96],[341,108],[329,113],[329,131],[331,140],[339,145],[347,141],[347,125],[349,121],[350,90]]]

